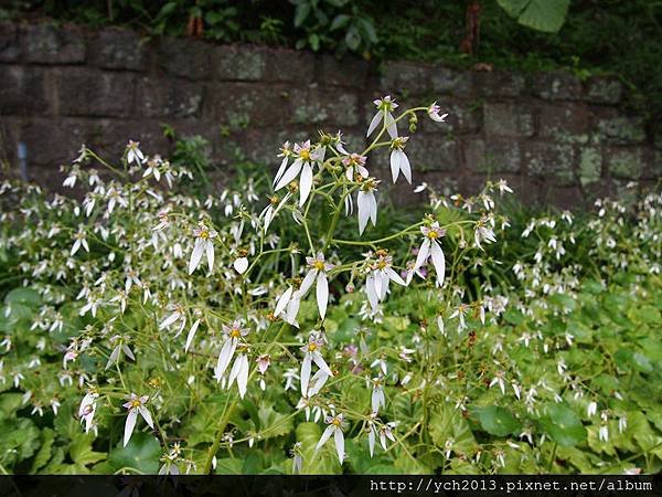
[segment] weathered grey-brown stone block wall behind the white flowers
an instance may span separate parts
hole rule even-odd
[[[57,188],[58,166],[81,144],[113,158],[134,139],[168,155],[169,125],[207,138],[222,178],[237,160],[275,167],[282,141],[318,129],[342,129],[359,148],[372,101],[391,94],[403,106],[436,99],[450,114],[447,124],[421,119],[409,141],[416,183],[471,193],[487,178],[506,178],[526,201],[580,207],[662,176],[662,144],[621,108],[623,92],[615,78],[581,82],[564,72],[397,61],[377,72],[361,60],[286,49],[0,24],[0,173],[17,168],[22,141],[31,178]],[[388,179],[386,155],[370,160]],[[403,183],[396,190],[415,199]]]

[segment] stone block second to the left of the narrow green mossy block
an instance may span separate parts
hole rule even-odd
[[[481,139],[465,145],[466,167],[484,173],[519,172],[521,168],[520,145],[513,140]]]

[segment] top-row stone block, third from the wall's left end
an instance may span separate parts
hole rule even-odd
[[[104,68],[141,71],[145,65],[145,42],[129,30],[105,29],[90,45],[93,64]]]

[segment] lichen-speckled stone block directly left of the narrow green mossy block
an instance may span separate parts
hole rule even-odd
[[[523,160],[528,176],[556,184],[575,182],[575,151],[569,145],[528,142],[524,146]]]

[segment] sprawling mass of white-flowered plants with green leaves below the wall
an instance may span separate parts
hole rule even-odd
[[[568,213],[533,220],[525,253],[502,250],[517,254],[509,279],[492,255],[509,226],[494,204],[504,181],[470,198],[423,184],[428,212],[405,222],[389,211],[384,229],[388,181],[372,175],[374,152],[387,150],[393,182],[412,182],[405,125],[446,115],[436,104],[398,113],[387,96],[375,106],[365,149],[340,133],[286,142],[273,180],[206,199],[185,193],[186,168],[134,141],[118,163],[82,148],[64,181],[77,199],[3,183],[0,258],[17,269],[2,279],[14,288],[0,318],[2,467],[659,467],[647,421],[659,389],[628,393],[659,377],[659,340],[619,321],[633,345],[621,352],[574,310],[610,284],[606,272],[659,272],[660,197],[632,210],[627,241],[613,202],[577,232]],[[575,242],[596,264],[587,287],[568,258]],[[632,319],[659,329],[656,308],[634,297],[659,281],[634,284],[619,287]],[[602,455],[585,456],[586,444]]]

